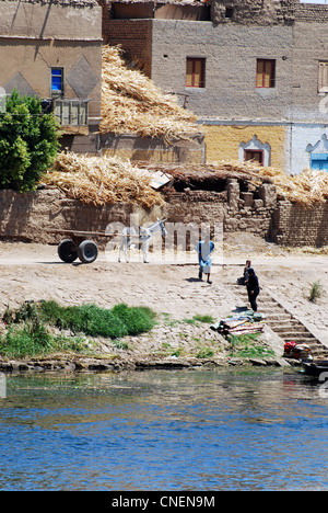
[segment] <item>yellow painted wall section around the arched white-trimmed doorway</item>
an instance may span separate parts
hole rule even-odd
[[[207,162],[238,160],[241,142],[248,142],[256,136],[262,144],[270,145],[270,164],[273,168],[285,170],[286,127],[284,126],[203,125],[203,130]]]

